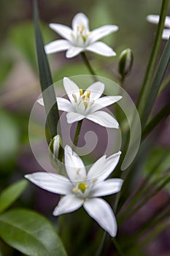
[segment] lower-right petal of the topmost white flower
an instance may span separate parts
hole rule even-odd
[[[93,53],[98,53],[103,56],[115,56],[116,53],[112,48],[110,48],[104,42],[93,42],[93,44],[89,45],[85,48],[85,50],[92,51]]]

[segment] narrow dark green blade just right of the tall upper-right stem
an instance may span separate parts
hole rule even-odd
[[[166,44],[165,50],[163,50],[163,55],[161,57],[161,61],[159,62],[157,72],[155,74],[155,78],[152,83],[152,88],[150,89],[150,93],[147,97],[146,105],[144,108],[144,114],[142,116],[142,126],[147,122],[147,118],[150,116],[150,112],[154,105],[155,99],[158,95],[158,91],[161,87],[161,83],[163,81],[163,77],[165,75],[166,69],[169,66],[170,61],[170,39]]]

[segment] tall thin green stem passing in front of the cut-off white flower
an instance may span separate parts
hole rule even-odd
[[[165,22],[165,18],[166,18],[166,13],[168,10],[168,5],[169,5],[169,0],[163,0],[162,1],[162,6],[161,6],[161,15],[160,15],[160,20],[158,23],[158,27],[157,27],[157,31],[155,34],[155,40],[154,40],[154,44],[152,47],[152,53],[150,55],[150,60],[149,63],[147,65],[147,72],[146,75],[144,77],[144,83],[142,85],[142,89],[140,91],[139,94],[139,98],[137,101],[137,105],[136,107],[139,110],[139,115],[142,116],[143,111],[144,111],[144,107],[145,107],[145,103],[146,103],[146,99],[147,96],[149,94],[150,91],[150,87],[152,85],[152,75],[155,69],[155,64],[157,61],[157,57],[158,57],[158,52],[161,46],[161,41],[162,41],[162,32],[163,32],[163,28],[164,28],[164,22]]]

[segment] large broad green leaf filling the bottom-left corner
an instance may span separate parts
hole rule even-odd
[[[25,255],[66,255],[51,223],[34,211],[20,208],[1,214],[0,236],[9,246]]]

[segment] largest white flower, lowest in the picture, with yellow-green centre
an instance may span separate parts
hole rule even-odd
[[[123,180],[105,179],[115,169],[120,158],[120,151],[112,156],[98,159],[88,173],[82,159],[65,147],[65,166],[68,178],[55,173],[32,173],[25,177],[42,189],[64,195],[53,211],[54,216],[76,211],[83,206],[90,217],[96,220],[110,236],[116,236],[117,223],[109,204],[98,197],[112,195],[120,191]]]

